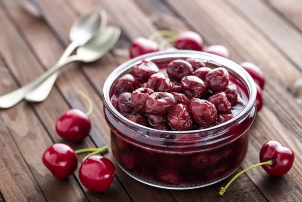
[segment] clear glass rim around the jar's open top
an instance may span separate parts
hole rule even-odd
[[[143,126],[138,123],[132,122],[128,120],[126,117],[122,116],[113,106],[111,100],[110,100],[110,90],[112,88],[112,85],[114,81],[116,81],[121,75],[123,75],[127,70],[131,69],[133,66],[139,64],[142,60],[159,60],[159,59],[165,59],[165,58],[194,58],[194,59],[200,59],[205,62],[211,62],[212,64],[218,65],[218,66],[226,66],[230,69],[232,69],[236,74],[238,74],[244,81],[248,90],[248,102],[245,105],[244,109],[236,115],[234,118],[232,118],[229,121],[226,121],[222,124],[218,124],[209,128],[205,129],[199,129],[199,130],[189,130],[189,131],[163,131],[163,130],[157,130],[150,128],[148,126]],[[127,124],[130,124],[131,126],[138,127],[145,129],[147,132],[160,132],[162,134],[190,134],[190,133],[203,133],[208,132],[211,130],[217,130],[219,128],[224,128],[227,125],[239,120],[242,117],[245,117],[250,110],[253,108],[256,102],[256,85],[252,77],[248,74],[248,72],[242,68],[239,64],[214,54],[205,53],[201,51],[193,51],[193,50],[172,50],[172,51],[158,51],[158,52],[152,52],[145,55],[141,55],[139,57],[133,58],[129,61],[126,61],[116,67],[111,74],[107,77],[104,87],[103,87],[103,101],[105,106],[109,109],[111,113],[113,113],[115,116],[117,116],[119,119],[125,121]]]

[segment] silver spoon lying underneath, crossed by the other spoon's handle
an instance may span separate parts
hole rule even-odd
[[[91,39],[97,30],[103,31],[106,24],[107,15],[102,9],[94,10],[80,16],[70,29],[69,38],[72,42],[66,48],[61,58],[57,61],[57,64],[64,62],[78,46],[85,44],[89,39]],[[58,74],[59,72],[57,71],[38,87],[26,93],[25,100],[44,101],[53,88]]]

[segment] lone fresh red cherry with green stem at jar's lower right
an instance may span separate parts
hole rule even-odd
[[[282,146],[278,141],[267,141],[260,150],[259,158],[260,163],[249,166],[235,175],[225,187],[221,187],[219,194],[221,196],[224,195],[227,187],[236,180],[236,178],[254,167],[262,166],[268,174],[275,177],[285,175],[294,163],[295,154],[291,149]]]

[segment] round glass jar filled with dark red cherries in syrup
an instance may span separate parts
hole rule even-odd
[[[211,54],[180,52],[181,57],[159,52],[132,59],[113,71],[118,77],[109,76],[104,87],[116,162],[141,182],[172,189],[206,186],[232,174],[245,158],[248,129],[256,114],[253,82],[239,65]],[[215,71],[207,70],[211,74],[203,74],[204,79],[192,77],[198,69],[186,62],[192,58]],[[173,61],[181,74],[173,72]],[[152,62],[158,70],[151,66],[138,71],[142,62]],[[124,75],[127,78],[121,80]],[[169,75],[173,79],[167,81]]]

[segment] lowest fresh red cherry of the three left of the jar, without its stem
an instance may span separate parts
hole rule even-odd
[[[115,174],[113,162],[102,156],[91,156],[79,170],[81,183],[90,191],[103,192],[110,187]]]

